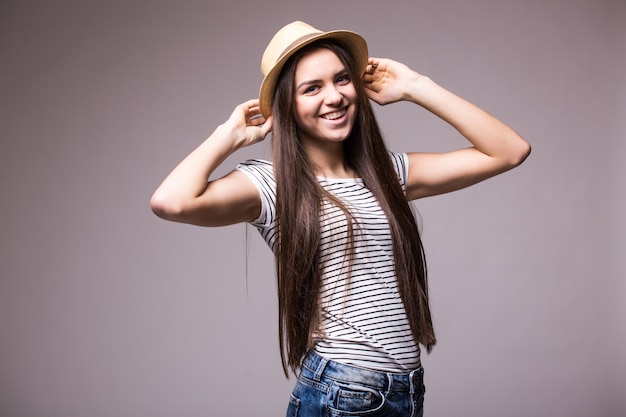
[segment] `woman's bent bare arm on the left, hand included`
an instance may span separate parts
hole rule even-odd
[[[235,108],[230,118],[190,153],[152,195],[150,207],[166,220],[200,226],[223,226],[254,220],[261,209],[259,192],[241,172],[213,181],[209,177],[237,149],[263,140],[271,130],[258,100]]]

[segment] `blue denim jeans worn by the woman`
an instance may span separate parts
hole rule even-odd
[[[291,393],[287,417],[422,417],[424,370],[370,371],[309,352]]]

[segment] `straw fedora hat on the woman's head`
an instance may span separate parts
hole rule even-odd
[[[261,72],[265,78],[261,83],[259,102],[263,116],[268,117],[272,114],[276,81],[285,62],[304,46],[320,39],[334,39],[345,45],[357,63],[358,71],[360,73],[365,71],[368,59],[367,43],[358,33],[349,30],[322,32],[301,21],[289,23],[276,32],[261,59]]]

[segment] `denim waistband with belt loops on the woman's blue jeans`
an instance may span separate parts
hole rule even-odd
[[[314,351],[309,351],[304,357],[300,372],[302,376],[318,382],[322,378],[328,378],[341,382],[354,382],[386,392],[413,393],[424,383],[424,369],[421,366],[405,374],[372,371],[335,362]]]

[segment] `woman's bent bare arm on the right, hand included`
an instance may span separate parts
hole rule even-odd
[[[404,64],[370,58],[367,94],[378,104],[411,101],[452,125],[471,144],[445,153],[409,153],[409,199],[455,191],[521,164],[530,145],[506,124]]]

